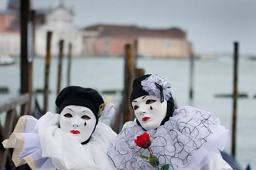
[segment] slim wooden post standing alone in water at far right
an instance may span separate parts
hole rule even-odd
[[[237,110],[237,71],[238,71],[238,42],[234,42],[234,81],[233,81],[233,119],[231,155],[236,156],[236,110]]]

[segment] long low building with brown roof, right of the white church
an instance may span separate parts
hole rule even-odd
[[[122,56],[126,43],[138,43],[138,55],[143,57],[187,58],[192,53],[192,44],[186,33],[179,28],[147,29],[124,25],[93,25],[85,30],[94,30],[95,37],[84,36],[85,56]]]

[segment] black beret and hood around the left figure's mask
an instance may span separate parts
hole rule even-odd
[[[102,96],[96,90],[79,86],[65,87],[61,90],[55,101],[56,106],[59,108],[59,114],[64,107],[69,105],[84,106],[91,109],[96,117],[95,127],[99,121],[99,107],[103,103],[104,101],[102,99]],[[86,144],[87,142],[89,142],[90,138],[82,144]]]

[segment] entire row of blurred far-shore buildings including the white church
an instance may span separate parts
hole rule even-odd
[[[64,40],[64,55],[72,43],[73,56],[123,56],[126,43],[137,42],[142,57],[187,58],[192,44],[179,28],[148,29],[135,25],[92,25],[85,29],[73,23],[74,13],[60,1],[55,9],[36,9],[35,55],[45,56],[46,34],[52,32],[51,55],[59,54],[59,41]],[[20,54],[20,0],[9,0],[0,10],[0,53]]]

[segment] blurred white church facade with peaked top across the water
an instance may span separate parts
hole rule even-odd
[[[64,55],[68,54],[69,43],[72,43],[72,55],[81,56],[83,51],[82,30],[73,24],[73,12],[63,5],[46,14],[45,23],[36,28],[35,53],[44,56],[46,53],[46,36],[51,31],[51,55],[59,54],[59,41],[64,40]]]

